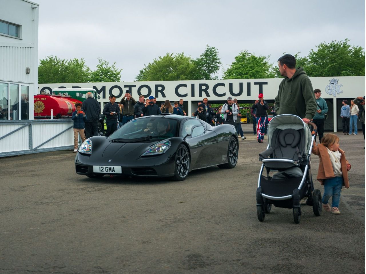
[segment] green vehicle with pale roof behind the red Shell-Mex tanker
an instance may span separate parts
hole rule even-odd
[[[93,92],[94,98],[100,99],[100,96],[97,94],[97,91],[94,88],[54,88],[52,90],[52,93],[54,95],[71,97],[81,102],[86,100],[86,94],[88,92]],[[104,134],[106,131],[107,131],[107,125],[105,124],[105,117],[103,114],[100,114],[98,123],[98,133],[102,132]]]

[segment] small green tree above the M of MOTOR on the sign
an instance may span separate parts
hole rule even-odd
[[[109,62],[98,58],[97,69],[90,73],[90,82],[120,82],[122,69],[116,67],[116,62]]]

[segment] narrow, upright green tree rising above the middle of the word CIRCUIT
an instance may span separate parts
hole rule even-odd
[[[219,50],[216,47],[206,45],[205,52],[194,60],[197,72],[192,80],[214,80],[218,76],[213,76],[219,71],[221,60],[219,57]]]

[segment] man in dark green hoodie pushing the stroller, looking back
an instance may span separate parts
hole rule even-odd
[[[294,114],[302,118],[305,123],[309,123],[317,112],[317,103],[309,77],[302,67],[296,69],[296,59],[291,54],[280,57],[278,66],[285,79],[281,81],[275,98],[276,114]]]

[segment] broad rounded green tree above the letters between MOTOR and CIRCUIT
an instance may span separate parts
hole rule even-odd
[[[137,81],[192,80],[196,66],[191,57],[184,53],[167,53],[145,65],[136,76]]]

